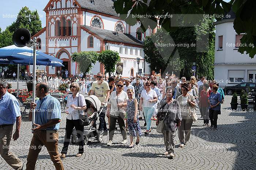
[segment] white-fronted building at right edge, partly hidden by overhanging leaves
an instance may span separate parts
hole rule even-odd
[[[242,34],[238,35],[233,28],[234,12],[230,11],[229,15],[229,18],[215,22],[214,79],[219,86],[256,82],[256,56],[251,58],[237,51]]]

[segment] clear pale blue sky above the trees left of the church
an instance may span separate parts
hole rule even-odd
[[[22,3],[21,3],[22,1]],[[230,0],[224,0],[229,2]],[[44,8],[48,4],[49,0],[1,0],[0,4],[0,27],[3,30],[9,25],[11,25],[16,18],[11,17],[11,15],[16,15],[22,7],[29,7],[31,11],[37,10],[39,17],[42,21],[42,28],[45,27],[45,11]],[[6,17],[7,15],[7,17]],[[8,16],[10,15],[10,16]]]

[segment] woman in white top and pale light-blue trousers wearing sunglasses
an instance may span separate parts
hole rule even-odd
[[[140,95],[140,110],[143,110],[147,122],[147,130],[144,132],[145,135],[151,132],[151,117],[154,113],[154,106],[157,100],[157,92],[151,89],[150,82],[146,82],[146,90],[143,90]]]

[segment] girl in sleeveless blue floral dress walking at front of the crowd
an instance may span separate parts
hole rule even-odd
[[[139,117],[137,115],[138,101],[136,98],[133,98],[133,93],[134,92],[132,89],[130,88],[127,89],[127,94],[129,97],[129,100],[127,101],[127,123],[128,123],[128,129],[129,129],[129,136],[131,140],[131,144],[127,148],[132,148],[134,146],[133,137],[137,137],[136,145],[138,145],[140,142],[140,136],[142,136],[142,132],[139,124]]]

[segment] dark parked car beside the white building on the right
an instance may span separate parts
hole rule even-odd
[[[243,82],[243,83],[239,83],[235,86],[226,86],[224,88],[224,91],[226,94],[233,94],[234,92],[236,92],[237,94],[240,94],[242,90],[246,91],[246,88],[249,87],[251,90],[252,89],[256,89],[256,83],[248,83],[248,82]]]

